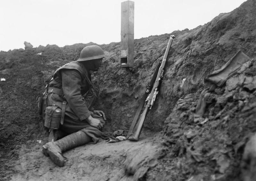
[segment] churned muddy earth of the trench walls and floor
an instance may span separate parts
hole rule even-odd
[[[123,129],[127,133],[170,35],[176,36],[140,141],[101,140],[71,149],[63,154],[67,157],[64,167],[42,153],[48,130],[37,113],[36,97],[44,92],[55,69],[77,60],[82,48],[94,43],[1,51],[0,78],[5,81],[0,82],[0,179],[243,180],[242,155],[256,132],[255,9],[256,1],[248,0],[192,30],[137,39],[133,68],[119,67],[120,42],[99,45],[105,58],[93,75],[101,88],[94,107],[106,113],[103,132]],[[204,77],[239,50],[250,61],[211,92],[204,115],[194,119],[206,88]]]

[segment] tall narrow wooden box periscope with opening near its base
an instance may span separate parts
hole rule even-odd
[[[133,67],[134,52],[134,2],[121,3],[121,53],[120,67]]]

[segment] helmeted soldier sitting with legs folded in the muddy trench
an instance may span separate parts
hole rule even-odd
[[[92,84],[90,71],[100,68],[103,57],[99,46],[84,47],[77,61],[54,72],[46,88],[45,125],[51,132],[43,153],[60,167],[65,163],[62,152],[89,142],[96,143],[102,136],[100,130],[106,117],[104,112],[92,107],[98,98],[99,86]],[[56,128],[66,136],[57,140]]]

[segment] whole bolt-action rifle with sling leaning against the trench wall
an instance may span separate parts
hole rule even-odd
[[[159,63],[159,65],[157,66],[155,73],[153,74],[153,77],[147,87],[147,90],[143,96],[143,98],[141,99],[141,103],[140,106],[133,118],[132,121],[132,125],[129,129],[129,132],[127,134],[127,139],[130,141],[138,141],[139,137],[140,137],[140,132],[141,132],[141,128],[143,126],[144,120],[146,119],[146,116],[148,114],[148,111],[152,108],[155,100],[156,100],[156,95],[159,92],[160,89],[160,85],[163,81],[163,74],[164,74],[164,66],[165,66],[165,62],[169,53],[169,50],[171,48],[172,45],[172,40],[175,38],[174,35],[170,36],[170,39],[168,41],[165,53],[164,53],[164,58],[162,60],[162,62]],[[153,88],[152,88],[152,84],[154,82]],[[150,93],[149,93],[150,92]],[[149,94],[148,94],[149,93]],[[147,96],[148,95],[148,96]],[[147,97],[147,98],[146,98]],[[144,103],[144,99],[145,100],[145,104],[144,104],[144,111],[140,114],[141,108],[143,106]],[[138,116],[140,114],[140,119],[137,122]],[[136,124],[137,122],[137,124]],[[136,127],[134,127],[136,124]]]

